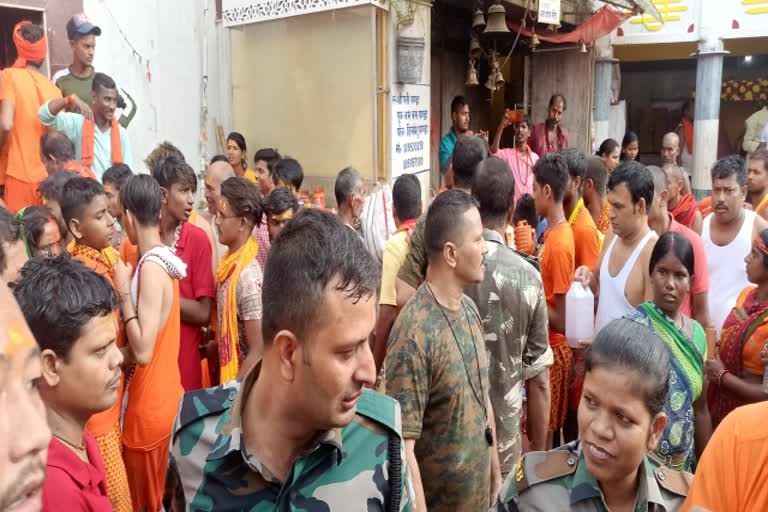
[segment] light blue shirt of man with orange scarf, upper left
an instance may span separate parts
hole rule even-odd
[[[63,133],[75,145],[75,160],[78,162],[83,159],[83,121],[80,114],[73,112],[59,112],[57,115],[51,114],[48,104],[43,103],[38,111],[40,122],[45,126],[50,126],[56,131]],[[128,143],[128,134],[125,128],[120,128],[120,145],[123,149],[123,163],[132,167],[131,146]],[[98,126],[94,128],[93,141],[93,165],[91,170],[96,178],[101,181],[104,171],[112,167],[112,128],[102,132]]]

